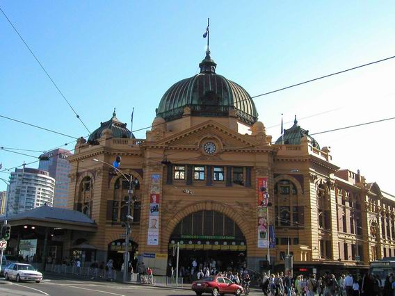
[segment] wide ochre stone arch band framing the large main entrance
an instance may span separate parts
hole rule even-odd
[[[211,201],[198,202],[196,204],[185,206],[180,211],[178,211],[177,214],[173,215],[172,218],[170,218],[170,220],[167,222],[167,227],[162,233],[161,245],[166,246],[167,249],[170,236],[175,230],[175,227],[177,227],[177,224],[181,222],[184,217],[198,211],[217,211],[219,213],[227,215],[230,219],[234,220],[234,222],[241,229],[241,232],[245,237],[247,246],[255,245],[255,233],[253,233],[255,227],[250,227],[248,222],[246,222],[244,218],[236,212],[236,209],[232,208],[231,206]]]

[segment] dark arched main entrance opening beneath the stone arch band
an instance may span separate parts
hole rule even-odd
[[[198,211],[184,217],[169,240],[169,263],[175,268],[175,247],[179,242],[180,271],[193,267],[215,266],[227,270],[243,266],[247,259],[246,240],[240,227],[227,215],[217,211]],[[213,261],[216,261],[212,264]],[[196,272],[195,272],[196,274]]]

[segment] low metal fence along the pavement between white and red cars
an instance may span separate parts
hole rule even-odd
[[[119,270],[104,270],[99,268],[90,268],[89,266],[70,266],[64,264],[47,264],[45,265],[46,272],[54,272],[58,274],[75,274],[81,277],[89,277],[90,279],[107,279],[112,281],[123,281],[123,271]],[[141,283],[151,286],[169,286],[182,288],[184,279],[179,277],[176,283],[175,277],[166,277],[160,275],[148,276],[137,273],[128,274],[128,281],[131,283]]]

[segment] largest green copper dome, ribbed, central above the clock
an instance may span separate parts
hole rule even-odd
[[[250,94],[239,84],[216,74],[210,51],[199,67],[199,74],[169,88],[156,109],[156,116],[166,122],[176,120],[188,107],[193,116],[228,117],[229,111],[234,111],[239,120],[247,124],[257,122],[258,113]]]

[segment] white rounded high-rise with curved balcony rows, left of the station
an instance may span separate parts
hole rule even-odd
[[[11,173],[8,186],[8,215],[38,206],[53,206],[55,179],[49,172],[24,167]]]

